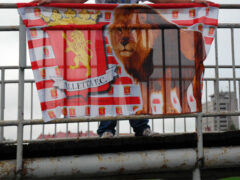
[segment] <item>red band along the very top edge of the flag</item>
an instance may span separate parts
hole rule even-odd
[[[201,3],[158,3],[158,4],[148,4],[148,6],[156,9],[166,9],[166,8],[192,8],[192,7],[220,7],[219,4],[207,2],[208,5]],[[37,6],[37,3],[17,3],[18,8]],[[80,4],[80,3],[49,3],[43,6],[46,7],[61,7],[61,8],[80,8],[80,9],[114,9],[117,4]]]

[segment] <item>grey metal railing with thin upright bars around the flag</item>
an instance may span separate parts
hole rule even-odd
[[[16,4],[0,4],[0,8],[16,8]],[[221,9],[240,9],[240,5],[221,5]],[[21,20],[20,20],[21,21]],[[195,170],[193,171],[193,179],[199,179],[200,178],[200,169],[203,166],[203,128],[202,128],[202,120],[203,118],[208,121],[208,118],[216,117],[215,121],[219,121],[219,117],[221,116],[240,116],[239,109],[235,110],[235,112],[221,112],[220,110],[220,102],[219,102],[219,92],[220,92],[220,83],[225,82],[228,86],[228,94],[231,94],[232,92],[236,95],[236,98],[238,98],[238,105],[240,106],[239,96],[240,96],[240,76],[237,75],[237,72],[240,71],[240,65],[236,65],[236,57],[235,57],[235,35],[234,30],[236,28],[240,28],[240,24],[219,24],[219,29],[230,29],[230,35],[231,35],[231,65],[219,65],[218,62],[218,38],[215,40],[215,65],[206,65],[205,69],[207,70],[214,70],[214,76],[215,77],[207,77],[204,79],[204,96],[203,100],[206,103],[206,107],[203,113],[195,113],[195,114],[185,114],[185,115],[139,115],[139,116],[118,116],[118,117],[97,117],[97,118],[73,118],[73,119],[57,119],[54,121],[51,121],[49,123],[44,123],[41,119],[34,118],[34,105],[38,102],[34,102],[34,97],[36,96],[36,88],[34,86],[34,80],[26,80],[24,73],[26,70],[31,69],[31,67],[26,66],[26,34],[25,34],[25,27],[21,23],[19,26],[1,26],[0,31],[19,31],[19,66],[0,66],[1,71],[1,78],[0,78],[0,90],[1,90],[1,100],[0,100],[0,143],[3,144],[11,144],[16,143],[17,144],[17,160],[16,160],[16,174],[17,177],[21,177],[21,170],[22,170],[22,164],[23,164],[23,143],[30,143],[30,142],[36,142],[36,137],[33,137],[33,128],[37,125],[42,126],[42,132],[41,134],[44,137],[46,126],[51,126],[53,129],[53,133],[55,135],[55,139],[52,139],[52,141],[57,140],[56,139],[56,133],[58,132],[58,125],[65,124],[65,131],[66,131],[66,138],[68,138],[68,131],[69,126],[71,123],[75,123],[74,125],[77,125],[77,133],[80,131],[80,126],[85,123],[85,129],[88,131],[90,126],[93,124],[93,126],[98,126],[98,123],[100,121],[104,120],[117,120],[118,126],[117,126],[117,134],[120,135],[121,133],[121,123],[122,120],[129,120],[129,119],[143,119],[148,118],[151,119],[151,126],[154,131],[160,132],[160,133],[186,133],[189,131],[194,131],[198,135],[198,145],[197,145],[197,165]],[[218,37],[218,36],[217,36]],[[220,69],[231,69],[232,70],[232,77],[220,77],[219,70]],[[9,70],[18,70],[19,77],[18,79],[11,79],[6,80],[6,72]],[[5,119],[5,97],[6,97],[6,86],[9,84],[15,84],[18,85],[18,116],[16,120],[4,120]],[[30,99],[30,116],[29,118],[24,118],[24,102],[25,102],[25,91],[26,91],[26,85],[30,85],[30,93],[27,94]],[[209,111],[208,103],[209,102],[209,88],[214,88],[214,95],[215,95],[215,103],[216,103],[216,110],[215,111]],[[229,99],[231,104],[231,98]],[[40,108],[38,109],[40,111]],[[171,120],[170,120],[171,119]],[[194,122],[194,120],[196,123]],[[204,120],[205,120],[204,119]],[[120,121],[121,120],[121,121]],[[166,125],[171,121],[171,128],[168,128],[169,125]],[[177,123],[181,123],[181,128],[177,128]],[[160,122],[160,123],[159,123]],[[190,122],[190,125],[189,125]],[[193,123],[194,122],[194,123]],[[86,124],[87,123],[87,124]],[[156,125],[158,123],[158,125]],[[218,123],[220,124],[220,123]],[[188,128],[188,125],[194,128]],[[17,139],[16,140],[9,140],[5,139],[4,136],[4,129],[6,127],[17,127]],[[161,128],[159,128],[159,126]],[[218,125],[220,126],[220,125]],[[24,137],[24,128],[28,127],[29,130],[29,138]],[[171,129],[171,130],[168,130]],[[178,129],[181,129],[178,131]],[[190,130],[189,130],[190,129]],[[219,129],[219,128],[218,128]],[[239,127],[237,127],[239,129]],[[132,133],[131,128],[129,129],[128,133]],[[79,138],[79,137],[77,137]],[[42,139],[44,140],[44,139]],[[41,140],[39,140],[41,141]]]

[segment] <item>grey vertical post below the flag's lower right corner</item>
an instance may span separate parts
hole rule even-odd
[[[202,113],[197,116],[197,163],[196,168],[193,170],[193,180],[200,180],[201,173],[200,168],[203,166],[204,154],[203,154],[203,133],[202,133]]]

